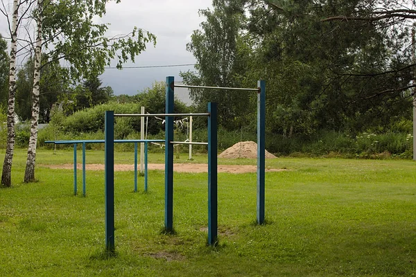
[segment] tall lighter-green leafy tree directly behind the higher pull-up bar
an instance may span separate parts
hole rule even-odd
[[[245,84],[245,71],[250,59],[251,46],[241,35],[245,17],[241,4],[235,1],[214,1],[214,10],[200,10],[206,17],[202,30],[194,30],[187,44],[198,64],[197,72],[182,72],[185,83],[213,87],[256,87],[250,80]],[[247,124],[255,111],[254,93],[191,89],[191,99],[197,111],[205,111],[207,102],[218,103],[218,123],[226,129]]]

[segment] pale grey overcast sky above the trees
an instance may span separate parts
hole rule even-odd
[[[5,3],[8,0],[3,0]],[[10,0],[10,3],[12,1]],[[135,64],[125,66],[159,66],[170,64],[193,64],[193,55],[186,50],[193,30],[200,28],[204,20],[198,10],[211,7],[211,0],[122,0],[108,3],[103,23],[111,24],[108,35],[130,33],[134,26],[143,28],[157,37],[155,48],[148,44],[144,53],[136,57]],[[6,33],[7,21],[0,14],[0,33]],[[115,64],[115,63],[114,63]],[[193,66],[150,68],[150,69],[107,69],[101,80],[103,86],[110,86],[114,93],[136,94],[155,81],[164,81],[173,75],[180,81],[180,71]]]

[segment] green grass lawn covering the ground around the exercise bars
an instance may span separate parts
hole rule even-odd
[[[116,163],[132,163],[118,152]],[[3,159],[4,150],[0,152]],[[38,182],[0,189],[0,276],[414,276],[416,163],[402,160],[266,161],[266,220],[257,226],[256,175],[218,174],[218,247],[207,247],[207,174],[175,173],[175,235],[164,223],[164,172],[133,193],[132,172],[115,173],[116,257],[105,255],[104,174],[87,172],[73,196],[73,153],[39,150]],[[80,159],[78,153],[78,159]],[[87,163],[103,163],[87,152]],[[187,156],[182,155],[184,162]],[[197,156],[193,162],[206,162]],[[163,154],[149,162],[164,163]],[[255,160],[219,160],[255,164]],[[81,172],[78,188],[81,187]],[[142,188],[143,178],[139,179]]]

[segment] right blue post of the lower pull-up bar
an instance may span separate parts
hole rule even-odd
[[[218,236],[217,104],[208,103],[208,244]]]

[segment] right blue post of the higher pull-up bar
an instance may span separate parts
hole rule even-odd
[[[266,82],[257,82],[257,223],[264,222],[264,181],[266,141]]]

